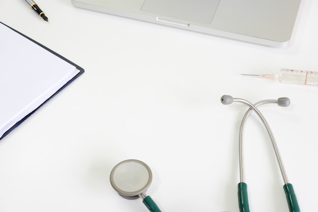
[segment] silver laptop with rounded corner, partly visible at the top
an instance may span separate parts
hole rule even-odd
[[[301,0],[72,0],[75,7],[267,46],[287,46]]]

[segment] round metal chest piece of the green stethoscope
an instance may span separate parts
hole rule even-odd
[[[137,199],[151,184],[152,172],[142,161],[130,159],[118,163],[110,173],[110,184],[126,199]]]

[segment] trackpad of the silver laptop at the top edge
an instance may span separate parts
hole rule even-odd
[[[211,23],[220,0],[146,0],[141,11],[200,23]]]

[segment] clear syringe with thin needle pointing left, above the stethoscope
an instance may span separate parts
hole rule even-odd
[[[318,85],[318,72],[313,71],[301,71],[293,69],[280,69],[278,75],[275,74],[242,74],[248,76],[259,76],[268,79],[278,80],[279,82],[306,84],[306,85]]]

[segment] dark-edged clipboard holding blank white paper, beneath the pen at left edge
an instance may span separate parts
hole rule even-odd
[[[0,38],[1,141],[84,69],[2,22]],[[43,66],[29,62],[29,57]]]

